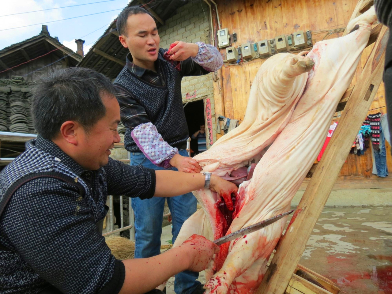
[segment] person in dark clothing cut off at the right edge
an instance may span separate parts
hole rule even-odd
[[[385,52],[384,85],[389,131],[392,132],[392,1],[374,0],[374,7],[378,20],[389,27],[389,40]]]

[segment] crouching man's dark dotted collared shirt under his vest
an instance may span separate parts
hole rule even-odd
[[[35,294],[51,285],[64,294],[118,293],[125,268],[98,232],[93,211],[107,193],[151,198],[155,172],[111,158],[87,171],[50,140],[38,136],[35,146],[78,175],[91,197],[55,178],[31,180],[13,194],[0,217],[0,244],[9,249],[0,250],[0,293]]]

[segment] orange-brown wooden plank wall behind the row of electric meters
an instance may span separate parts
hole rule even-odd
[[[336,38],[339,34],[329,34],[330,29],[345,27],[350,19],[357,0],[218,0],[218,13],[222,28],[228,28],[229,34],[237,33],[235,47],[245,42],[257,42],[271,39],[280,34],[292,34],[295,31],[312,31],[313,42],[323,38]],[[316,31],[316,32],[315,32]],[[373,46],[373,45],[372,45]],[[372,46],[365,49],[356,72],[360,74]],[[225,49],[220,50],[225,54]],[[224,109],[216,113],[226,117],[243,120],[252,81],[265,59],[257,58],[240,65],[222,67],[222,93]],[[352,85],[356,83],[354,76]],[[385,90],[381,84],[369,113],[383,112],[385,108]],[[364,118],[365,120],[365,118]],[[388,169],[392,172],[390,146],[387,145]],[[363,176],[371,178],[371,151],[364,156],[350,154],[341,170],[341,176]]]

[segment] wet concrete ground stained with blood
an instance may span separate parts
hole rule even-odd
[[[162,244],[170,239],[167,226]],[[392,294],[392,207],[326,207],[299,263],[335,281],[341,294]]]

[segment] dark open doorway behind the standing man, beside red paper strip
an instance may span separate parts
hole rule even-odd
[[[184,104],[185,105],[185,104]],[[187,119],[189,137],[200,130],[200,125],[204,124],[204,103],[203,99],[189,102],[184,107],[185,118]],[[193,151],[193,152],[192,152]],[[191,157],[198,154],[197,140],[191,139]]]

